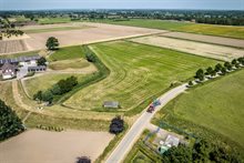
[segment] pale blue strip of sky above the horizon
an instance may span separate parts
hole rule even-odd
[[[244,0],[0,0],[0,10],[40,9],[216,9],[244,11]]]

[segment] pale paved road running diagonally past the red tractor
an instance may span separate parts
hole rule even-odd
[[[125,155],[130,152],[133,144],[136,142],[136,140],[140,137],[144,129],[149,125],[150,121],[152,120],[153,115],[163,108],[167,102],[170,102],[172,99],[181,94],[186,90],[186,84],[183,84],[181,86],[177,86],[166,93],[164,93],[162,96],[159,98],[161,101],[161,105],[156,106],[155,111],[153,113],[148,113],[146,109],[143,111],[142,115],[135,121],[135,123],[132,125],[132,128],[128,131],[128,133],[124,135],[120,144],[114,149],[114,151],[111,153],[109,159],[106,160],[106,163],[120,163],[123,161]]]

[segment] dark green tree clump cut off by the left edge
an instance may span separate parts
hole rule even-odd
[[[16,112],[0,100],[0,141],[24,131],[24,126]]]

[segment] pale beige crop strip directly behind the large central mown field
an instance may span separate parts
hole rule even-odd
[[[134,42],[145,43],[162,48],[169,48],[173,50],[179,50],[192,54],[197,54],[207,58],[214,58],[218,60],[232,60],[238,57],[244,55],[244,50],[235,49],[230,47],[222,47],[216,44],[209,44],[202,42],[194,42],[194,41],[186,41],[186,40],[179,40],[172,38],[164,38],[164,37],[143,37],[132,39]]]

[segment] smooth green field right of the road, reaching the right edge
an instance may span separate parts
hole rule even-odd
[[[211,129],[244,149],[243,85],[244,70],[241,70],[182,94],[162,109],[155,120],[169,120],[172,124],[183,119]],[[165,118],[166,112],[172,113]]]

